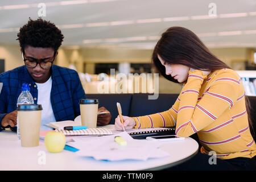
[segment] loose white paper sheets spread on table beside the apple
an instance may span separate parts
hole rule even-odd
[[[121,146],[114,141],[116,136],[126,140],[127,145]],[[76,138],[75,142],[67,143],[78,148],[79,156],[89,156],[96,160],[147,160],[148,158],[162,158],[168,152],[160,150],[160,142],[133,139],[126,132],[115,135],[90,138]]]

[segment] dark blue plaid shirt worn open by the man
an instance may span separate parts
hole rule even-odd
[[[73,120],[80,115],[80,99],[86,98],[79,75],[72,69],[57,65],[52,65],[51,71],[51,104],[55,119],[56,121]],[[17,109],[16,104],[22,84],[30,85],[30,93],[35,104],[38,101],[38,89],[25,65],[2,73],[0,82],[3,82],[0,94],[0,131],[2,131],[4,130],[1,125],[2,119],[7,113]]]

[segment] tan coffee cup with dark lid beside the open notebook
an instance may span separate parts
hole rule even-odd
[[[82,126],[87,126],[88,128],[97,127],[98,103],[98,100],[95,98],[80,100]]]

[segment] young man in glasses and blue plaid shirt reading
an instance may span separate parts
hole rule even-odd
[[[79,75],[72,69],[53,65],[63,38],[55,24],[41,18],[30,19],[20,28],[17,40],[25,65],[0,75],[0,131],[6,127],[15,130],[16,104],[25,83],[30,85],[35,104],[42,104],[41,130],[49,130],[43,124],[73,120],[80,115],[79,101],[86,96]],[[100,107],[98,111],[108,110]],[[101,114],[97,125],[107,125],[110,119],[110,113]]]

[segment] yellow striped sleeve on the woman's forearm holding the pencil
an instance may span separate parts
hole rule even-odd
[[[156,114],[144,115],[141,117],[133,117],[136,122],[134,129],[175,126],[179,102],[180,99],[178,97],[175,104],[167,111]]]

